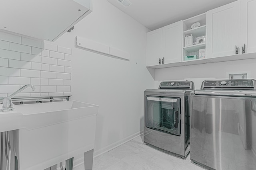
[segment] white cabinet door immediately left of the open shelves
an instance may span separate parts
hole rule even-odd
[[[182,21],[163,27],[162,58],[164,64],[181,62]]]

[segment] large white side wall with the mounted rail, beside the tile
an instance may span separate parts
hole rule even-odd
[[[145,67],[148,31],[106,0],[94,0],[93,12],[53,43],[72,48],[72,100],[99,105],[95,155],[143,129],[143,92],[154,88]],[[127,51],[130,61],[78,49],[76,36]]]

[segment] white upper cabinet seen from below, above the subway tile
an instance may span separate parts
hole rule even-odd
[[[2,0],[0,31],[55,41],[90,12],[92,0]]]

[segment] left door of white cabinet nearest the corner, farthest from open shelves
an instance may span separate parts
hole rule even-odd
[[[146,36],[146,66],[158,65],[158,60],[162,59],[162,28],[150,31]]]

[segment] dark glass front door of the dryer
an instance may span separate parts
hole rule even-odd
[[[180,135],[180,98],[146,96],[146,127]]]

